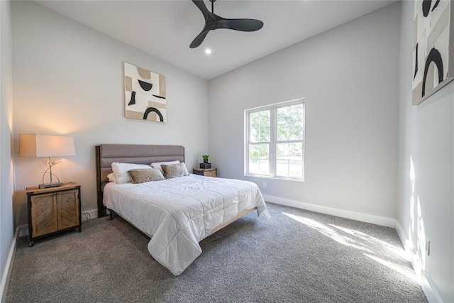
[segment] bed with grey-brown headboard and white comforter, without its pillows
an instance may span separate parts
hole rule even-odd
[[[106,216],[109,210],[148,236],[150,255],[173,275],[181,274],[201,254],[199,241],[207,236],[250,211],[269,217],[260,189],[253,182],[193,174],[139,184],[109,182],[112,163],[117,167],[168,161],[184,162],[184,147],[96,146],[99,216]],[[162,168],[172,166],[184,167],[179,164]]]

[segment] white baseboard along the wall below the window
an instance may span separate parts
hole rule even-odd
[[[395,227],[395,225],[396,225],[396,219],[387,218],[384,216],[374,216],[371,214],[362,214],[362,213],[359,213],[356,211],[346,211],[343,209],[336,209],[336,208],[329,207],[329,206],[322,206],[322,205],[299,202],[299,201],[290,200],[290,199],[284,199],[281,197],[274,197],[274,196],[270,196],[267,194],[264,194],[263,198],[265,199],[265,201],[275,203],[275,204],[292,206],[292,207],[296,207],[298,209],[306,209],[308,211],[316,211],[316,212],[319,212],[322,214],[331,214],[333,216],[341,216],[343,218],[353,219],[356,221],[362,221],[362,222],[367,222],[367,223],[372,223],[372,224],[377,224],[377,225],[387,226],[387,227]]]

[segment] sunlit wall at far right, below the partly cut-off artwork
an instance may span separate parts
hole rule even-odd
[[[454,302],[454,82],[411,106],[413,18],[402,1],[397,231],[429,301]]]

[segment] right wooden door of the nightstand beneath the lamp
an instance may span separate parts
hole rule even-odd
[[[55,194],[58,209],[58,229],[79,225],[79,192],[69,190]]]

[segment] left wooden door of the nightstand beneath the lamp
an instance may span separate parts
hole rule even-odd
[[[33,237],[57,231],[57,207],[54,194],[31,197],[31,216]]]

